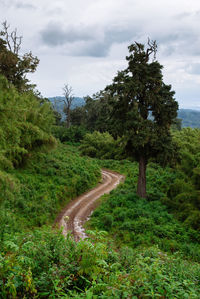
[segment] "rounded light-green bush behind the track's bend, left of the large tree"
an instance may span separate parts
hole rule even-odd
[[[83,155],[99,159],[123,158],[123,143],[108,133],[87,133],[81,142],[80,151]]]

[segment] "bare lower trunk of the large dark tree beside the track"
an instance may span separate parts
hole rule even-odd
[[[139,176],[138,176],[138,184],[137,184],[137,195],[140,197],[146,198],[146,167],[147,160],[144,155],[140,156],[139,159]]]

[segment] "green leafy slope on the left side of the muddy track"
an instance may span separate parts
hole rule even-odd
[[[23,168],[1,174],[2,233],[52,223],[70,199],[93,187],[100,177],[95,162],[61,144],[49,153],[35,153]]]

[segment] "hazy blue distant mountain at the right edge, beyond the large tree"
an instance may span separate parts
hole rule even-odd
[[[180,109],[178,118],[182,119],[182,128],[200,128],[200,111],[192,109]]]

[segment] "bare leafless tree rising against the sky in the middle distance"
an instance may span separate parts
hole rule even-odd
[[[74,100],[73,90],[72,87],[69,86],[69,84],[65,84],[63,87],[63,94],[65,96],[64,101],[64,113],[66,114],[66,126],[67,128],[70,127],[71,124],[71,106],[72,102]]]

